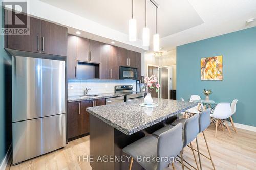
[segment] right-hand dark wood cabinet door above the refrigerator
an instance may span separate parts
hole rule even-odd
[[[68,29],[51,22],[41,21],[41,52],[67,56]]]

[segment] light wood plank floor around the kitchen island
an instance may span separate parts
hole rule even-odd
[[[216,169],[256,169],[256,132],[238,129],[238,133],[227,130],[218,131],[214,138],[215,128],[210,126],[205,135],[211,150]],[[202,133],[198,136],[200,150],[207,155],[207,149]],[[194,148],[196,143],[194,142]],[[88,162],[78,161],[77,155],[89,155],[89,136],[69,142],[64,148],[55,152],[28,160],[10,169],[91,169]],[[184,149],[184,159],[195,165],[190,148]],[[203,169],[212,169],[210,160],[201,156]],[[182,169],[180,163],[175,163],[176,169]],[[172,167],[166,168],[172,169]],[[185,168],[186,169],[186,168]],[[123,170],[123,169],[122,169]]]

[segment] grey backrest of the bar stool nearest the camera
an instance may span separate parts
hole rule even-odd
[[[149,148],[150,149],[150,148]],[[157,142],[157,156],[160,158],[173,158],[182,150],[182,124],[179,123],[172,129],[162,133],[158,137]],[[170,162],[159,161],[157,163],[157,170],[164,169]]]

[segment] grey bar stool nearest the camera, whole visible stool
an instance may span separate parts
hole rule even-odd
[[[132,157],[129,170],[132,169],[134,159],[146,170],[162,170],[171,162],[164,161],[164,159],[159,162],[143,161],[143,159],[138,161],[138,156],[175,159],[181,150],[182,124],[165,131],[158,138],[148,135],[123,148],[123,152]],[[174,168],[173,163],[172,165]]]

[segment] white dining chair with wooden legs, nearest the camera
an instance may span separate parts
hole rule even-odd
[[[214,113],[212,113],[210,116],[211,118],[214,119],[215,122],[215,138],[217,137],[217,129],[218,129],[218,125],[219,126],[224,126],[227,128],[230,136],[232,136],[227,122],[225,119],[228,119],[229,117],[231,117],[232,113],[231,113],[231,107],[230,107],[230,103],[218,103],[214,109]],[[224,125],[225,123],[225,125]],[[223,127],[222,127],[223,128]],[[223,129],[222,129],[223,130]]]

